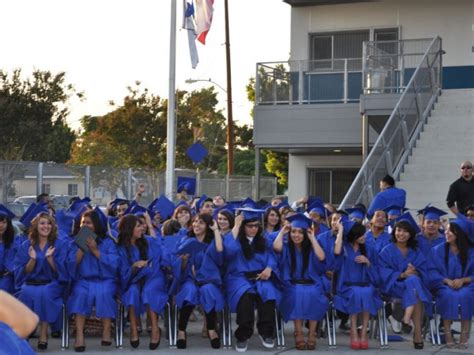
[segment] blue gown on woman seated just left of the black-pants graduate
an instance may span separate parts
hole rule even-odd
[[[185,237],[177,246],[177,251],[193,237]],[[206,250],[189,255],[186,268],[181,270],[181,259],[174,263],[174,275],[178,282],[176,304],[178,308],[185,305],[201,305],[204,312],[221,311],[225,301],[222,292],[221,270],[218,266],[222,257],[216,251],[215,241]]]

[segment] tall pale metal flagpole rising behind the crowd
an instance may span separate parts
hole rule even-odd
[[[173,200],[174,165],[176,151],[176,0],[171,0],[170,65],[168,89],[168,122],[166,134],[166,196]]]

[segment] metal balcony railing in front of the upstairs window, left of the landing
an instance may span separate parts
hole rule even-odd
[[[362,58],[257,63],[256,104],[356,102],[361,83]]]

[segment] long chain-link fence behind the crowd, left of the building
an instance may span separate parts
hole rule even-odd
[[[196,194],[221,195],[227,200],[242,200],[255,194],[254,176],[227,176],[176,169],[175,176],[196,177]],[[0,161],[0,202],[29,204],[36,195],[48,193],[66,207],[69,197],[89,196],[94,205],[105,206],[116,197],[132,199],[137,189],[145,189],[140,203],[147,205],[165,193],[165,173],[144,169],[118,169],[42,162]],[[176,191],[176,181],[174,189]],[[262,177],[260,196],[277,194],[274,177]]]

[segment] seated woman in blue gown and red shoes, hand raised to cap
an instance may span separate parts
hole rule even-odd
[[[351,348],[367,349],[367,326],[370,315],[376,315],[382,300],[376,290],[378,272],[375,249],[365,243],[365,227],[355,221],[345,220],[338,226],[334,254],[341,263],[338,273],[334,306],[350,315]],[[344,240],[343,240],[344,237]],[[360,335],[357,317],[362,315]]]

